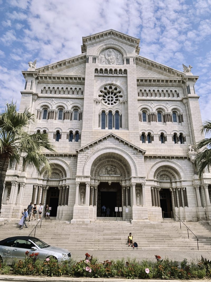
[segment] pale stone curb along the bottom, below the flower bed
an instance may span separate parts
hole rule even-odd
[[[73,282],[128,282],[129,279],[114,279],[114,278],[73,278],[73,277],[41,277],[41,276],[15,276],[15,275],[0,275],[0,281],[17,281],[17,282],[64,282],[64,281],[73,281]],[[178,280],[160,280],[160,279],[135,279],[137,282],[175,282]],[[179,281],[188,281],[188,280],[179,280]],[[193,282],[201,282],[199,280],[191,280]],[[203,282],[210,282],[209,279],[203,279]]]

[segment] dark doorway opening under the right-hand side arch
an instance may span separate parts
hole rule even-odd
[[[160,190],[160,207],[164,218],[172,218],[172,201],[169,189]]]

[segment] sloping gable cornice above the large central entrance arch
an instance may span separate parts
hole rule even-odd
[[[136,150],[138,152],[142,152],[142,155],[144,155],[146,153],[146,150],[143,150],[140,147],[135,146],[134,144],[128,142],[127,140],[121,138],[120,136],[118,136],[114,133],[108,133],[108,134],[96,139],[95,141],[92,141],[92,142],[86,144],[85,146],[76,149],[76,151],[80,152],[80,151],[83,151],[84,149],[89,149],[89,147],[94,146],[95,143],[98,144],[98,142],[103,142],[104,140],[107,140],[108,137],[113,137],[115,139],[118,139],[119,142],[122,142],[125,146],[132,147],[134,150]]]

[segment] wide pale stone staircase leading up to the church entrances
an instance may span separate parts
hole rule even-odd
[[[17,221],[18,222],[18,221]],[[37,221],[26,222],[28,228],[17,226],[16,221],[0,222],[0,240],[15,235],[28,236]],[[202,222],[185,222],[199,238],[199,251],[211,250],[211,226]],[[179,222],[166,221],[157,224],[131,224],[99,218],[91,224],[70,224],[65,221],[42,220],[36,228],[35,237],[44,242],[69,250],[133,250],[128,246],[127,236],[132,233],[139,250],[197,250],[196,237]],[[31,234],[34,236],[34,231]]]

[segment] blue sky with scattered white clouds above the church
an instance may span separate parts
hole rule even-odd
[[[211,0],[0,0],[0,107],[19,105],[21,70],[81,53],[82,36],[113,28],[140,38],[140,55],[199,75],[202,119],[211,119]]]

